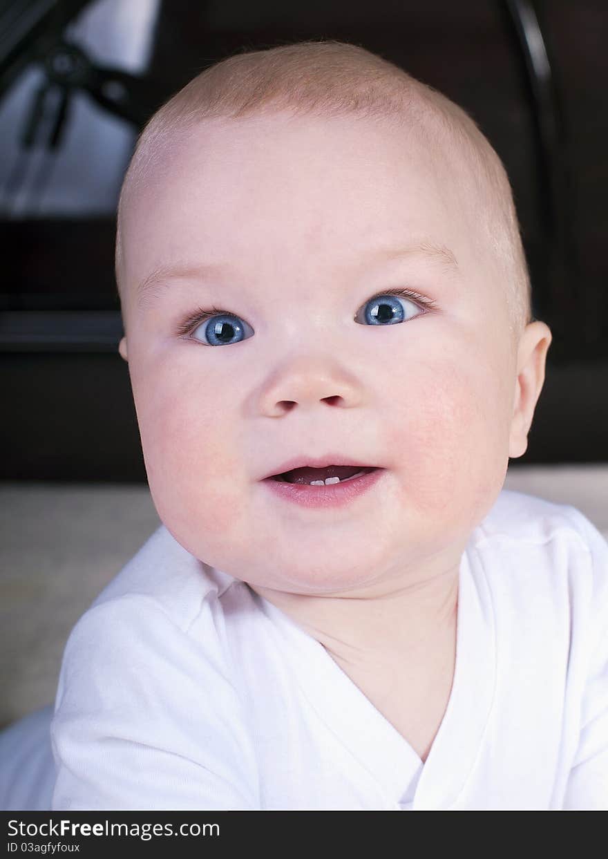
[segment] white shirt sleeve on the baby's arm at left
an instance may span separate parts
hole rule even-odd
[[[52,721],[52,810],[258,807],[242,704],[211,608],[201,611],[204,643],[143,595],[76,624]]]

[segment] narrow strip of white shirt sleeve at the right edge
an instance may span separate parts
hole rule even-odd
[[[576,521],[591,554],[593,588],[589,662],[581,701],[581,732],[563,809],[608,810],[608,543],[579,511]]]

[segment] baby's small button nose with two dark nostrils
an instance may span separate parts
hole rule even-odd
[[[336,362],[296,360],[272,375],[261,393],[260,411],[280,417],[296,406],[352,408],[362,402],[362,388],[350,371]]]

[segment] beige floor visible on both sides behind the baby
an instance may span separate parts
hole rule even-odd
[[[520,466],[506,488],[573,504],[608,539],[608,465]],[[65,641],[160,524],[145,486],[0,483],[0,728],[52,702]]]

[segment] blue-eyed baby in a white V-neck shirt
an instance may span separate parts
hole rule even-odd
[[[502,490],[551,333],[467,114],[230,57],[143,130],[117,280],[162,525],[70,636],[52,807],[607,807],[608,546]]]

